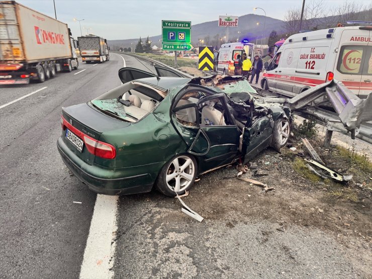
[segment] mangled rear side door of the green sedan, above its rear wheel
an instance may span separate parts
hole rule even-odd
[[[182,104],[186,104],[178,105],[180,100],[184,100],[182,99],[184,98],[183,96],[188,96],[190,92],[195,91],[198,91],[198,94],[203,95],[204,98],[201,100],[196,99],[194,102],[182,102]],[[223,124],[211,123],[207,119],[202,119],[203,109],[207,106],[211,107],[208,104],[212,103],[219,104],[219,112],[221,113],[222,110]],[[189,117],[191,114],[195,114],[193,125],[185,124],[185,121],[181,121],[179,116],[177,116],[177,113],[185,110],[189,110],[187,112]],[[171,116],[174,128],[189,147],[188,153],[198,158],[201,172],[229,164],[238,155],[241,132],[237,125],[234,124],[227,108],[225,94],[215,94],[209,90],[189,87],[179,93],[173,103]]]

